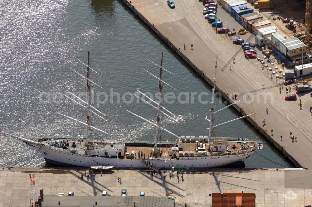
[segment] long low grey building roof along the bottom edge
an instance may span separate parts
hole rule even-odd
[[[41,207],[174,207],[175,199],[154,196],[57,196],[45,195]]]

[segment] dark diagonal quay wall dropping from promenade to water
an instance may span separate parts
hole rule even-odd
[[[154,31],[176,54],[178,54],[186,64],[188,64],[196,73],[197,75],[201,76],[208,84],[213,85],[213,81],[207,77],[207,75],[197,68],[196,65],[194,65],[182,52],[179,50],[177,46],[175,46],[168,37],[164,36],[153,24],[151,24],[135,7],[131,4],[130,0],[121,0],[125,5],[127,5],[134,14],[139,17],[152,31]],[[227,103],[231,104],[233,103],[232,99],[229,97],[228,94],[224,93],[221,89],[219,89],[216,86],[216,91],[219,92],[222,97],[227,101]],[[239,107],[237,104],[232,105],[239,113],[241,113],[243,116],[246,116],[247,114],[244,112],[244,110]],[[287,157],[293,164],[297,167],[303,168],[303,166],[300,165],[298,161],[296,161],[282,146],[280,146],[279,142],[276,142],[272,139],[270,134],[268,134],[267,131],[263,130],[252,118],[247,117],[246,118],[266,139],[271,142],[278,150],[280,150],[285,157]]]

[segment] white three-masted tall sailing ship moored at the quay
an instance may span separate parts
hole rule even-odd
[[[87,101],[80,99],[75,94],[69,92],[75,99],[68,96],[74,103],[80,104],[86,109],[86,122],[81,122],[64,114],[58,113],[59,115],[74,120],[80,124],[86,126],[86,136],[85,140],[79,135],[72,139],[66,138],[40,138],[37,141],[32,141],[23,137],[18,137],[7,132],[2,132],[11,137],[17,138],[27,145],[35,148],[37,152],[41,153],[42,157],[48,163],[58,164],[62,166],[114,166],[119,168],[150,168],[156,170],[156,168],[213,168],[220,167],[235,163],[237,161],[244,161],[247,157],[254,154],[256,151],[260,151],[263,148],[263,142],[257,142],[256,140],[250,138],[242,137],[212,137],[214,128],[222,125],[214,125],[214,114],[218,111],[214,111],[214,99],[215,99],[215,87],[216,87],[216,72],[217,72],[217,61],[215,63],[215,79],[212,89],[212,103],[210,107],[210,119],[206,117],[209,122],[208,136],[178,136],[166,129],[161,125],[163,116],[172,119],[175,122],[179,122],[177,116],[171,113],[168,109],[163,107],[162,104],[162,91],[164,85],[172,87],[162,80],[162,73],[170,71],[163,68],[163,53],[161,55],[161,63],[157,65],[159,69],[159,77],[154,76],[149,71],[150,75],[158,79],[158,101],[150,99],[147,95],[138,91],[144,98],[147,98],[151,103],[146,102],[151,107],[157,111],[156,123],[151,122],[131,111],[129,113],[133,114],[135,117],[139,117],[144,121],[152,124],[155,127],[154,142],[119,142],[110,140],[95,140],[89,137],[89,130],[97,130],[101,133],[108,134],[107,132],[95,128],[90,125],[90,119],[92,116],[97,116],[103,120],[106,120],[103,116],[105,114],[101,113],[98,109],[91,105],[91,84],[100,87],[98,84],[90,80],[90,72],[95,70],[89,66],[90,53],[88,52],[88,64],[83,65],[87,67],[87,76],[83,76],[77,71],[73,70],[76,74],[82,76],[86,79],[87,83]],[[172,74],[172,73],[171,73]],[[172,87],[173,88],[173,87]],[[135,94],[134,94],[135,95]],[[135,95],[136,96],[136,95]],[[238,102],[238,101],[237,101]],[[237,103],[235,102],[235,103]],[[153,104],[152,104],[153,103]],[[231,104],[232,105],[232,104]],[[227,106],[228,107],[228,106]],[[226,108],[226,107],[225,107]],[[247,116],[251,116],[247,115]],[[243,116],[241,118],[247,117]],[[240,118],[236,118],[237,120]],[[234,121],[231,120],[231,121]],[[231,121],[225,122],[229,123]],[[164,141],[161,139],[161,132],[169,133],[173,137],[176,137],[175,141]],[[82,147],[80,147],[80,144]],[[78,147],[79,145],[79,147]]]

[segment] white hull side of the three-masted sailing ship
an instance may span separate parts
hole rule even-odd
[[[32,147],[39,149],[38,145],[30,144]],[[63,165],[63,166],[118,166],[119,168],[148,168],[139,159],[119,159],[85,156],[81,154],[60,152],[51,147],[41,147],[39,152],[48,163]],[[180,168],[214,168],[232,164],[237,161],[244,161],[251,156],[255,151],[247,152],[239,155],[224,155],[224,156],[202,156],[202,157],[179,157],[179,159],[150,159],[152,165],[163,169],[171,167]]]

